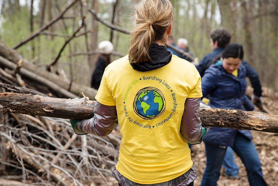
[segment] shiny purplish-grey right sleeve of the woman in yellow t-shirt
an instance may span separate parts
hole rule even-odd
[[[180,133],[187,139],[188,143],[200,143],[202,140],[202,121],[199,117],[201,98],[187,98],[184,103]],[[202,142],[202,141],[201,141]]]

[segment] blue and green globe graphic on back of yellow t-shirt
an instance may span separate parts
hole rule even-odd
[[[165,98],[157,88],[146,87],[136,94],[133,108],[143,119],[154,119],[165,111]]]

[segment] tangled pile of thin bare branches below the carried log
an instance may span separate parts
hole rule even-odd
[[[66,119],[0,115],[0,185],[9,180],[18,185],[110,185],[106,177],[120,146],[117,130],[104,138],[78,136]]]

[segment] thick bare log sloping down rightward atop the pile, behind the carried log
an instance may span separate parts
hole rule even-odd
[[[27,71],[30,71],[34,74],[36,74],[36,78],[44,78],[50,81],[53,85],[58,85],[62,87],[65,90],[69,90],[71,93],[74,93],[75,95],[80,95],[81,92],[83,92],[86,96],[88,96],[91,100],[95,99],[95,95],[97,90],[90,88],[86,85],[77,84],[74,82],[70,82],[68,80],[63,79],[61,76],[58,76],[56,74],[50,73],[42,68],[37,67],[36,65],[29,62],[27,59],[24,59],[16,50],[8,47],[3,42],[0,41],[0,56],[4,57],[7,61],[13,62],[14,64],[17,64],[20,59],[23,60],[23,66],[19,70],[19,74],[23,73],[23,69],[26,69]],[[1,61],[5,61],[3,58]],[[5,65],[6,66],[6,65]],[[8,67],[12,68],[12,67]],[[24,72],[26,74],[26,72]],[[32,78],[34,81],[36,81],[36,78]],[[47,85],[49,86],[49,85]],[[51,87],[49,87],[51,88]]]

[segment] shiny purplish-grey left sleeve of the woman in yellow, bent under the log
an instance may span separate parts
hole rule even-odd
[[[107,136],[112,132],[117,120],[116,106],[107,106],[96,101],[94,117],[80,120],[76,128],[84,133]]]

